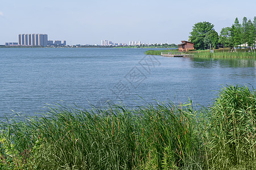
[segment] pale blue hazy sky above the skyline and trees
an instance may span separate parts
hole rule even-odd
[[[20,33],[46,33],[69,45],[129,43],[179,44],[198,22],[220,33],[236,18],[253,20],[256,1],[237,0],[0,0],[0,44]]]

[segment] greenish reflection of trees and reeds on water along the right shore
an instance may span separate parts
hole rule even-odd
[[[255,67],[255,59],[229,59],[229,58],[190,58],[192,67],[214,68],[214,67]]]

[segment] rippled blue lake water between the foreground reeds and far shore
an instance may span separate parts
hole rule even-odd
[[[0,49],[0,117],[42,113],[47,104],[84,108],[158,101],[208,106],[226,84],[256,87],[253,59],[145,56],[148,49]]]

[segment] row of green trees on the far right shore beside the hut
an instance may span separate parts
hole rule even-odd
[[[255,51],[256,40],[256,16],[254,20],[243,18],[240,24],[238,18],[235,19],[231,27],[221,29],[220,35],[214,30],[214,25],[209,22],[196,23],[190,32],[189,41],[194,43],[194,47],[199,50],[217,48],[221,45],[229,47],[235,52],[246,44],[250,50]],[[242,46],[241,46],[242,45]],[[246,48],[245,48],[246,50]]]

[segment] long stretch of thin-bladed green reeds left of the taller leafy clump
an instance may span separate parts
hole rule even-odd
[[[168,169],[200,165],[201,140],[194,135],[199,130],[197,112],[191,104],[156,104],[136,110],[119,105],[91,111],[62,106],[50,109],[42,117],[1,124],[1,137],[13,144],[15,154],[26,150],[34,167]]]

